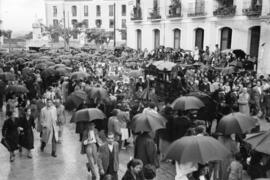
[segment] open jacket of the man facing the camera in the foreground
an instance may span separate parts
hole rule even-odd
[[[119,145],[117,142],[113,143],[113,169],[115,172],[118,171],[119,168]],[[106,173],[109,168],[109,155],[110,150],[108,147],[108,143],[105,143],[104,145],[99,147],[99,158],[98,158],[98,165],[100,169],[103,169]]]

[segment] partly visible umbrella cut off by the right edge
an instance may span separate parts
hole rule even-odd
[[[251,134],[245,141],[251,144],[252,149],[270,155],[270,130]]]

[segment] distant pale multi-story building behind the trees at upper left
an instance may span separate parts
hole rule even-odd
[[[101,28],[105,31],[116,29],[116,43],[126,42],[127,13],[126,0],[44,0],[46,25],[62,24],[70,27],[84,22],[86,28]],[[74,36],[72,41],[80,41]]]

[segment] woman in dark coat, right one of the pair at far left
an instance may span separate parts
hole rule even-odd
[[[19,144],[27,149],[27,157],[32,158],[31,149],[34,149],[34,134],[35,128],[34,117],[31,116],[31,109],[27,109],[25,115],[20,119],[20,127],[23,128],[22,135],[20,136]]]

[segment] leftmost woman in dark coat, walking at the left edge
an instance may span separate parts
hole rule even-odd
[[[14,151],[18,149],[19,132],[22,130],[22,128],[19,127],[18,119],[15,118],[15,116],[16,114],[14,112],[8,111],[8,119],[4,122],[2,128],[3,140],[6,142],[6,148],[10,152],[10,162],[15,160]]]

